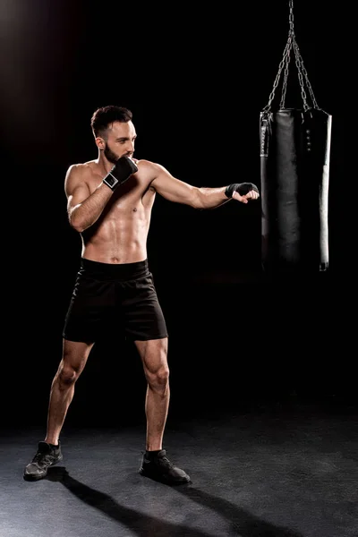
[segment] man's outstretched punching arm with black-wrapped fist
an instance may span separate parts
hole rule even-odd
[[[151,186],[166,200],[190,205],[194,209],[214,209],[233,199],[247,203],[259,198],[253,183],[232,183],[217,188],[197,187],[171,175],[164,166],[151,163],[154,178]]]

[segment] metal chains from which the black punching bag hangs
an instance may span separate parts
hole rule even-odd
[[[301,52],[300,52],[300,49],[297,45],[297,41],[296,41],[296,38],[295,38],[295,34],[294,34],[294,0],[289,0],[289,17],[288,17],[288,21],[289,21],[289,31],[288,31],[288,39],[287,39],[287,43],[286,43],[286,47],[285,47],[285,50],[284,50],[284,55],[283,55],[283,58],[281,60],[281,62],[279,63],[278,65],[278,71],[277,71],[277,75],[276,75],[276,79],[274,81],[274,85],[273,85],[273,88],[271,90],[271,93],[269,94],[269,97],[268,97],[268,104],[266,105],[266,107],[263,108],[263,112],[268,112],[271,108],[271,105],[272,105],[272,102],[275,98],[275,92],[277,90],[277,86],[278,86],[278,83],[280,81],[280,78],[281,78],[281,74],[285,68],[285,71],[284,71],[284,80],[283,80],[283,85],[282,85],[282,91],[281,91],[281,100],[280,100],[280,108],[284,108],[285,107],[285,101],[286,101],[286,91],[287,91],[287,80],[288,80],[288,67],[289,67],[289,64],[290,64],[290,60],[291,60],[291,51],[292,51],[292,48],[294,48],[294,59],[295,59],[295,65],[297,67],[297,71],[298,71],[298,80],[299,80],[299,83],[300,83],[300,88],[301,88],[301,96],[303,98],[303,109],[305,111],[307,111],[310,106],[307,102],[307,94],[306,94],[306,91],[304,89],[304,81],[306,83],[306,86],[310,92],[310,96],[311,96],[311,99],[312,99],[312,103],[313,103],[313,107],[314,108],[318,108],[318,105],[317,105],[317,101],[314,97],[314,94],[313,94],[313,90],[312,90],[312,87],[311,87],[311,83],[308,79],[308,74],[307,74],[307,71],[303,65],[303,57],[301,55]],[[304,81],[303,81],[303,78],[304,78]]]

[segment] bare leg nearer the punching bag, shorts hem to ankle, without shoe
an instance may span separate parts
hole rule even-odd
[[[136,341],[148,386],[145,401],[147,416],[146,449],[162,449],[166,416],[169,407],[169,368],[167,364],[167,337]]]

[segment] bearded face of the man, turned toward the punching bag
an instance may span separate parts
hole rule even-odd
[[[113,164],[121,157],[132,157],[134,142],[137,138],[132,121],[120,123],[116,121],[107,130],[107,140],[96,138],[98,149],[103,151],[107,160]]]

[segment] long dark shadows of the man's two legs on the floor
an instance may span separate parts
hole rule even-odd
[[[172,524],[160,520],[158,517],[144,515],[135,509],[121,506],[108,494],[92,489],[72,478],[64,467],[50,468],[47,479],[52,482],[61,482],[78,499],[97,508],[121,524],[125,524],[139,537],[168,537],[168,535],[170,537],[212,537],[212,534],[205,531],[184,524]],[[166,485],[163,486],[166,487]],[[301,533],[263,522],[260,518],[252,516],[232,502],[212,496],[203,490],[195,489],[191,485],[175,487],[175,490],[193,502],[209,507],[218,515],[226,518],[234,532],[231,534],[237,534],[240,537],[303,537]]]

